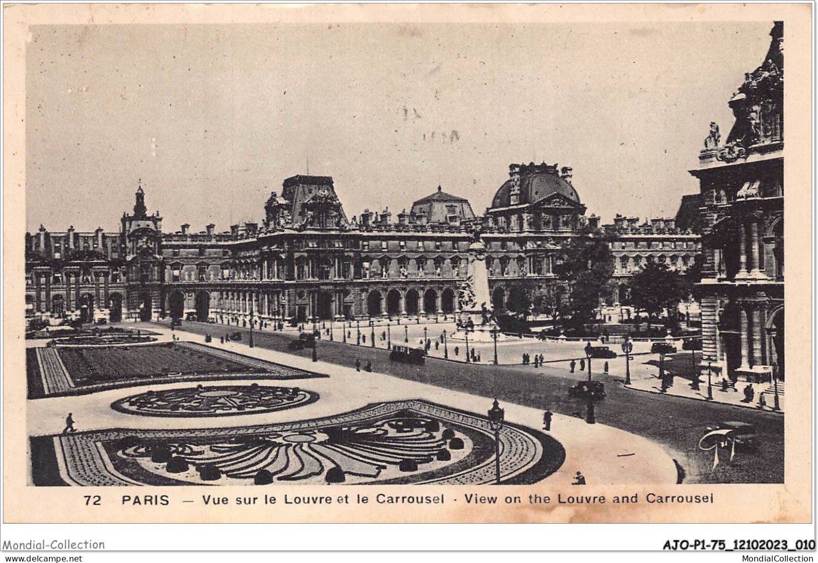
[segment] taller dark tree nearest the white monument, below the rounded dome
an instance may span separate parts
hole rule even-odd
[[[581,326],[594,319],[600,299],[609,293],[613,276],[613,253],[605,236],[587,231],[570,239],[555,273],[569,289],[572,324]]]

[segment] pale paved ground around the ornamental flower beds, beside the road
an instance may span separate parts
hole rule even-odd
[[[190,330],[196,328],[196,325],[188,324],[185,328]],[[199,328],[212,331],[216,327],[200,325]],[[227,327],[219,328],[227,329]],[[161,333],[161,341],[167,342],[170,339],[170,331],[167,328],[154,325],[153,329]],[[195,342],[202,342],[201,346],[204,346],[204,339],[199,335],[180,330],[177,330],[175,334],[182,339],[182,342],[190,338]],[[378,367],[380,369],[389,367],[389,364],[383,361],[373,373],[357,372],[351,366],[339,365],[331,361],[312,362],[303,355],[285,354],[275,349],[281,346],[269,346],[271,342],[267,342],[267,334],[259,335],[259,346],[253,349],[247,346],[246,337],[242,342],[221,345],[218,342],[220,335],[213,333],[213,336],[214,342],[210,347],[214,351],[251,355],[260,361],[287,364],[296,370],[326,373],[330,377],[294,379],[285,383],[288,388],[299,387],[315,394],[317,400],[304,400],[295,408],[272,412],[231,413],[229,417],[136,416],[134,413],[128,413],[128,409],[114,410],[111,408],[111,404],[117,401],[122,404],[123,400],[128,400],[129,397],[138,393],[144,394],[146,391],[159,395],[172,391],[171,397],[182,395],[184,400],[188,401],[186,404],[190,403],[191,395],[198,397],[201,391],[205,391],[209,400],[214,400],[213,397],[219,394],[214,395],[205,387],[215,385],[212,381],[205,382],[203,386],[205,388],[198,389],[198,391],[196,382],[157,382],[156,384],[147,382],[147,385],[146,382],[143,382],[137,387],[98,391],[90,395],[55,396],[30,400],[29,434],[39,436],[33,440],[38,452],[36,454],[38,463],[51,459],[49,455],[54,455],[52,451],[61,450],[65,453],[65,459],[84,460],[82,463],[75,463],[76,467],[97,464],[94,467],[107,467],[110,471],[106,475],[115,476],[113,480],[124,479],[125,482],[133,480],[149,484],[162,484],[163,480],[168,479],[174,482],[180,479],[191,480],[191,482],[207,480],[213,475],[201,470],[201,467],[205,465],[219,467],[220,472],[217,471],[219,482],[232,482],[231,479],[240,479],[242,476],[250,475],[248,471],[254,471],[254,475],[257,474],[258,467],[277,467],[276,463],[281,467],[288,467],[287,469],[280,468],[281,475],[277,476],[276,480],[279,477],[284,479],[285,476],[296,480],[305,479],[303,482],[312,482],[311,479],[315,480],[319,477],[329,479],[326,476],[331,467],[348,469],[353,465],[357,467],[357,470],[350,471],[348,479],[366,479],[358,475],[371,475],[372,470],[366,470],[364,467],[366,466],[379,468],[377,471],[379,482],[388,482],[389,479],[398,479],[396,482],[415,482],[411,479],[420,479],[416,482],[465,479],[465,482],[474,483],[493,480],[493,470],[479,469],[480,467],[493,467],[491,463],[493,454],[490,447],[493,440],[486,427],[485,418],[485,413],[492,404],[488,398],[492,396],[491,393],[481,396],[430,385],[429,382],[420,381],[421,378],[411,380],[411,378],[395,378],[378,373]],[[281,337],[281,335],[274,336]],[[290,338],[292,336],[289,335]],[[349,346],[340,344],[337,345],[337,349],[339,351],[353,350]],[[384,355],[384,351],[368,352]],[[452,363],[442,362],[442,364]],[[231,380],[229,383],[230,386],[235,387],[253,386],[254,384],[266,385],[255,374],[251,374],[244,380]],[[191,388],[192,391],[184,391],[191,390]],[[222,395],[219,395],[219,400],[222,398]],[[198,402],[191,408],[200,408],[201,400],[201,397],[196,398]],[[421,402],[405,404],[407,400],[420,400]],[[148,408],[172,408],[167,407],[165,403],[164,399],[162,401],[151,399],[148,401]],[[142,405],[138,401],[135,404],[137,407]],[[379,404],[384,406],[377,407],[376,405]],[[390,409],[393,407],[389,405],[393,404],[403,405],[395,411],[397,414],[389,415],[392,418],[384,418],[382,422],[378,422],[380,419],[377,417],[371,422],[366,422],[366,428],[370,429],[356,431],[360,432],[360,435],[348,436],[345,439],[348,440],[347,442],[342,440],[339,443],[338,431],[331,430],[339,423],[336,420],[338,417],[351,416],[357,417],[356,420],[363,420],[360,413],[373,408],[380,409],[378,416],[386,417],[388,413],[384,414],[383,409],[392,412]],[[589,484],[676,482],[677,473],[672,452],[652,440],[605,423],[589,425],[582,418],[559,412],[556,412],[554,416],[553,431],[543,433],[539,430],[542,429],[541,409],[515,404],[514,401],[504,397],[501,397],[501,406],[506,409],[507,422],[504,434],[501,436],[503,444],[501,460],[504,467],[502,471],[504,471],[503,479],[506,482],[518,482],[515,479],[525,482],[525,480],[547,478],[549,482],[569,484],[576,471],[582,471]],[[412,413],[410,418],[414,422],[405,420],[407,416],[405,413],[410,411]],[[49,437],[61,432],[65,414],[69,412],[73,413],[78,432],[70,436]],[[475,417],[472,413],[477,416]],[[366,420],[371,419],[369,415],[365,418]],[[419,420],[422,423],[418,422]],[[355,424],[358,427],[362,422]],[[222,444],[218,440],[218,443],[213,442],[220,432],[225,432],[222,429],[227,429],[226,436],[230,436],[227,444]],[[444,436],[447,429],[450,433]],[[315,434],[316,431],[318,435]],[[157,432],[159,434],[156,434]],[[255,437],[249,441],[240,441],[240,443],[236,441],[236,436],[248,434]],[[373,438],[373,436],[378,437]],[[43,437],[46,437],[44,441]],[[205,437],[209,441],[205,440],[207,443],[201,445],[201,440]],[[258,443],[260,437],[263,438],[267,449],[262,448]],[[407,439],[411,440],[403,441]],[[187,446],[181,450],[178,449],[182,447],[180,445],[182,440],[188,442],[193,440],[190,442],[193,449]],[[440,447],[440,440],[443,440],[443,447]],[[313,442],[316,443],[313,444]],[[396,448],[401,452],[407,451],[405,446],[401,446],[407,443],[412,444],[411,448],[417,448],[419,444],[427,444],[424,446],[425,449],[418,450],[420,457],[417,459],[421,464],[430,463],[430,465],[426,466],[427,470],[419,471],[413,477],[407,476],[408,473],[411,473],[411,462],[409,462],[409,471],[396,470],[393,464],[389,463],[394,461],[390,456],[394,455]],[[270,449],[269,444],[275,444],[276,447]],[[327,444],[329,446],[326,446]],[[439,452],[440,449],[447,449],[447,458],[434,457],[438,455],[436,452]],[[116,467],[109,467],[110,463],[104,458],[101,461],[99,459],[100,452],[109,450],[111,454],[108,457],[109,462],[114,463]],[[279,451],[285,453],[278,454]],[[514,453],[513,456],[512,453]],[[224,457],[228,455],[232,457]],[[261,463],[258,460],[262,460],[264,455],[269,458],[269,465],[258,466],[258,463]],[[169,458],[165,459],[163,456],[179,458],[178,462],[174,462],[178,463],[179,467],[174,466],[178,472],[174,472],[173,476],[164,472],[167,470],[163,467],[168,466],[163,466],[162,463],[167,464]],[[278,456],[281,456],[281,461]],[[128,458],[131,459],[128,460]],[[239,458],[244,459],[245,462],[239,462]],[[128,462],[124,462],[123,459]],[[209,460],[209,462],[199,463],[202,459]],[[232,459],[236,461],[231,461]],[[330,459],[334,461],[327,461]],[[195,467],[199,467],[198,474],[194,462],[196,462]],[[247,468],[242,463],[246,463]],[[48,462],[43,462],[43,467],[48,466]],[[380,467],[383,467],[383,470]],[[389,467],[392,468],[388,469]],[[466,469],[468,471],[464,473]],[[61,471],[65,472],[65,467]],[[92,484],[87,481],[90,479],[88,476],[97,475],[99,471],[83,470],[80,467],[70,470],[69,473],[67,477],[42,474],[39,478],[46,481],[52,478],[63,481],[68,479],[79,482],[79,484]]]

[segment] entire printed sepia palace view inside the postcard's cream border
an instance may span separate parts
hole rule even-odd
[[[612,123],[628,117],[595,109],[616,92],[549,90],[597,80],[592,66],[482,60],[441,38],[430,60],[452,61],[423,62],[428,74],[408,61],[420,50],[375,81],[330,59],[279,76],[281,57],[298,60],[273,49],[279,34],[316,31],[121,26],[113,41],[112,26],[73,27],[32,28],[26,61],[29,485],[784,482],[782,21],[717,27],[713,48],[753,61],[725,75],[732,92],[623,141]],[[615,41],[577,29],[555,56]],[[685,80],[721,92],[707,84],[733,68],[726,55]],[[470,84],[507,72],[519,99],[458,89],[447,65]],[[654,87],[682,96],[672,74]],[[395,95],[412,81],[428,100]],[[99,90],[115,101],[99,105]],[[556,115],[572,96],[584,109]],[[553,120],[527,113],[535,102]],[[500,124],[477,134],[447,121],[450,106]],[[105,125],[123,115],[129,130]],[[596,119],[596,136],[575,138]],[[689,167],[651,156],[688,131]],[[446,162],[420,162],[421,145]],[[264,161],[276,165],[252,168]],[[667,185],[605,185],[605,162]],[[155,211],[171,201],[173,226]]]

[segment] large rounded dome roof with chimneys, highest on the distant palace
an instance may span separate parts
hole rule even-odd
[[[579,194],[570,184],[571,168],[563,167],[562,172],[557,166],[542,164],[512,164],[510,178],[506,180],[492,199],[492,208],[506,208],[510,205],[524,205],[547,198],[551,194],[560,194],[580,203]],[[511,189],[519,178],[519,200],[511,203]]]

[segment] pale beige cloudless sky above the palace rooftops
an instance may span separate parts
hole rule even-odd
[[[295,174],[348,216],[443,190],[480,214],[510,163],[573,167],[587,215],[668,217],[771,21],[34,26],[26,223],[163,230],[263,219]]]

